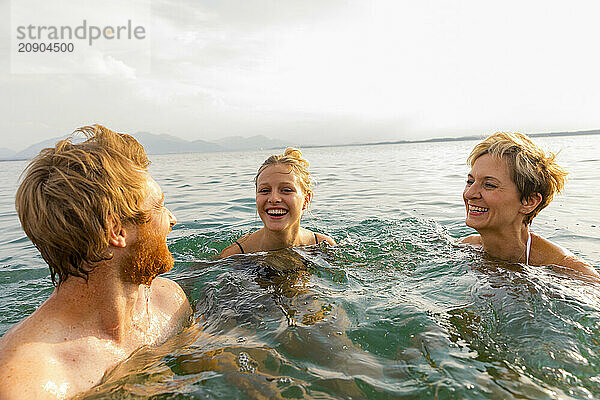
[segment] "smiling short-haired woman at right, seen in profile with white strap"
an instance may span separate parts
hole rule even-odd
[[[600,279],[568,250],[531,232],[531,221],[562,191],[567,172],[527,136],[496,133],[471,151],[463,192],[465,223],[479,234],[462,240],[494,258],[557,265]]]

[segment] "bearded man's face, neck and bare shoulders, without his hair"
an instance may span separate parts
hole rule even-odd
[[[191,310],[182,289],[155,278],[173,265],[166,235],[176,220],[149,175],[147,184],[143,206],[152,210],[150,222],[113,223],[113,258],[99,263],[87,283],[69,277],[2,337],[0,399],[72,397],[140,346],[163,342],[187,321]]]

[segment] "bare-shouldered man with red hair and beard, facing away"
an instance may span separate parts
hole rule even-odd
[[[166,235],[176,219],[131,136],[100,125],[42,150],[25,170],[16,209],[55,290],[0,339],[0,398],[66,398],[100,382],[190,315]]]

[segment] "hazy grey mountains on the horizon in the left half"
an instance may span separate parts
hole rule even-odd
[[[39,154],[42,149],[53,147],[60,140],[70,135],[55,137],[32,144],[19,152],[7,148],[0,148],[0,160],[28,160]],[[281,140],[270,139],[263,135],[252,137],[230,136],[217,142],[205,140],[185,140],[171,135],[155,135],[149,132],[132,134],[146,149],[148,154],[173,154],[173,153],[209,153],[218,151],[262,150],[285,148],[289,146]]]

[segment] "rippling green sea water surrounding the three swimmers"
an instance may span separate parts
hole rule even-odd
[[[570,175],[534,231],[600,268],[600,136],[536,141]],[[457,245],[475,143],[307,148],[302,224],[338,246],[225,260],[261,227],[253,177],[275,151],[151,156],[192,322],[82,397],[600,397],[600,287]],[[0,164],[1,335],[53,288],[14,210],[26,162]]]

